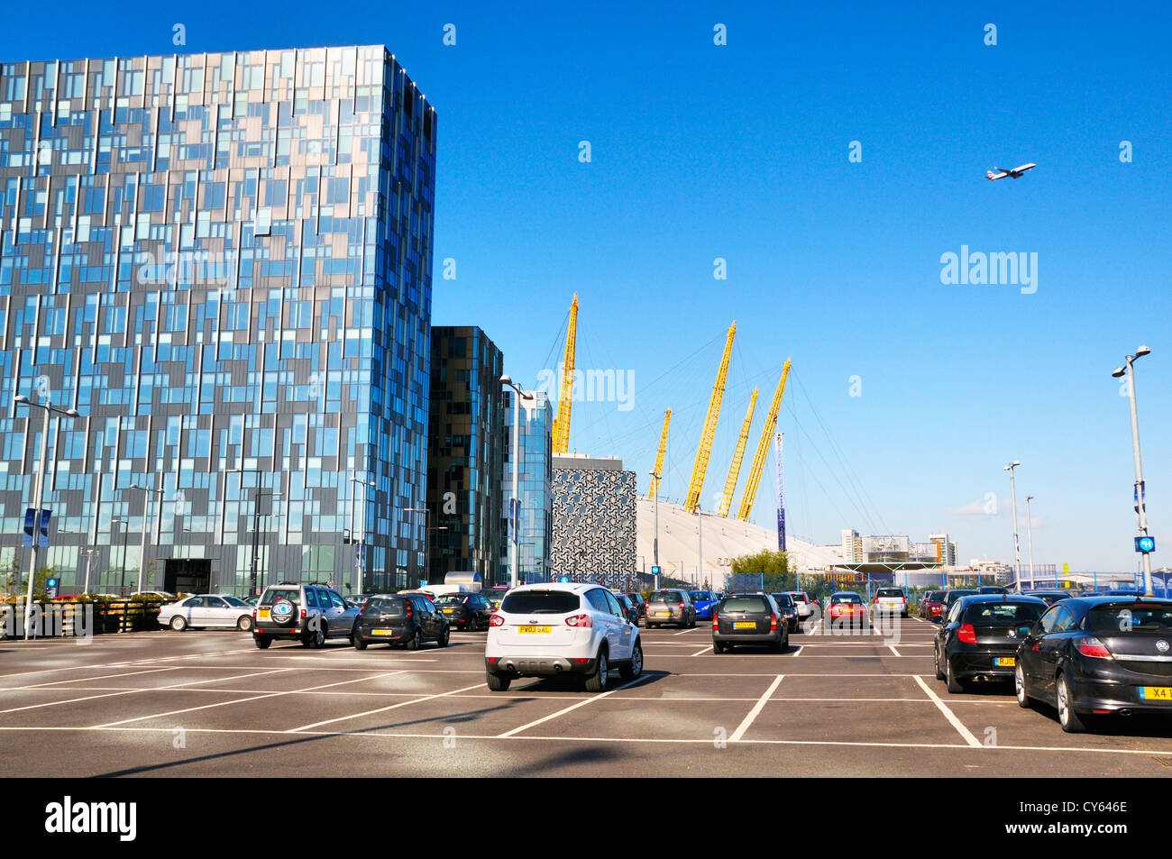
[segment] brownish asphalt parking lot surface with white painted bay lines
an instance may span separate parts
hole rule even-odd
[[[1008,684],[949,695],[935,627],[713,653],[641,630],[646,671],[484,686],[485,633],[445,649],[258,650],[239,632],[0,642],[0,755],[27,776],[1161,776],[1172,720],[1063,734]]]

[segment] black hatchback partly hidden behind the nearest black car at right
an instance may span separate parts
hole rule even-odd
[[[960,598],[936,630],[936,680],[946,681],[950,693],[965,691],[966,681],[975,677],[1009,680],[1017,664],[1017,645],[1045,609],[1036,596]]]

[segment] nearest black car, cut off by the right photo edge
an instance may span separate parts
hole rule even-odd
[[[1054,704],[1067,732],[1097,716],[1172,714],[1172,600],[1074,596],[1055,604],[1017,648],[1017,703]]]

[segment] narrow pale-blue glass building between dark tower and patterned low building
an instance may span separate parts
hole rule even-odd
[[[518,444],[520,461],[517,465],[520,493],[520,510],[517,521],[517,581],[530,584],[550,580],[550,550],[553,538],[553,407],[545,391],[525,391],[532,400],[520,397],[518,421]],[[505,544],[500,555],[500,573],[497,581],[510,581],[512,573],[512,539],[509,529],[509,503],[513,498],[512,489],[512,388],[504,390],[505,464],[503,507],[505,517]]]

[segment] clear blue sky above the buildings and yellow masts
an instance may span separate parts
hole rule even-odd
[[[663,493],[682,497],[735,319],[704,498],[759,386],[751,457],[791,356],[791,532],[947,531],[961,560],[1008,558],[1002,466],[1016,458],[1023,559],[1033,493],[1037,563],[1132,570],[1127,407],[1110,371],[1145,342],[1149,516],[1167,544],[1156,563],[1172,551],[1172,40],[1159,4],[118,11],[66,2],[66,26],[46,27],[43,9],[9,5],[0,56],[171,53],[176,22],[190,52],[388,45],[440,116],[434,321],[479,325],[536,384],[577,291],[579,367],[634,374],[631,410],[575,404],[572,449],[621,456],[646,485],[672,408]],[[713,43],[717,23],[727,46]],[[1022,162],[1038,168],[984,180]],[[941,254],[962,245],[1037,253],[1037,291],[941,284]],[[727,280],[713,277],[718,257]],[[445,258],[455,280],[440,277]],[[771,475],[770,462],[762,524]],[[988,493],[996,514],[966,512]]]

